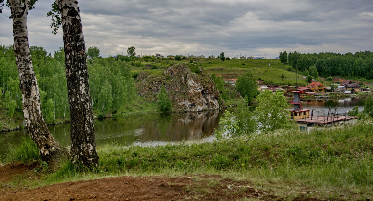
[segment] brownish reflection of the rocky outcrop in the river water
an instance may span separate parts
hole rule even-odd
[[[195,113],[173,113],[171,118],[162,122],[154,121],[146,126],[141,141],[162,140],[180,141],[204,138],[211,135],[219,126],[219,110]]]

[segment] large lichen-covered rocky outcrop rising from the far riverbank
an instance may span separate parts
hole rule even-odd
[[[156,94],[164,84],[174,111],[199,112],[225,107],[210,75],[200,66],[179,63],[169,67],[163,74],[166,78],[151,75],[144,79],[139,94],[145,97]]]

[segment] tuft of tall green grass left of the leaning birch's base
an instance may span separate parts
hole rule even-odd
[[[41,161],[41,157],[36,144],[30,137],[22,137],[21,144],[8,144],[9,153],[6,154],[7,162],[18,161],[22,164],[31,164]]]

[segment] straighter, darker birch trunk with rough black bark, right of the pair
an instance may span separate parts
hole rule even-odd
[[[71,162],[98,166],[94,138],[93,111],[88,82],[87,55],[78,1],[56,0],[63,29],[66,79],[71,118]]]

